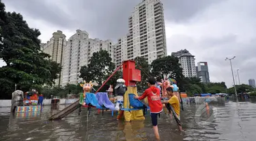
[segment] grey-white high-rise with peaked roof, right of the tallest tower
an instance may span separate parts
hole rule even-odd
[[[171,55],[179,58],[179,63],[183,68],[182,74],[184,77],[197,77],[195,56],[191,55],[188,50],[182,49],[178,52],[172,52]]]

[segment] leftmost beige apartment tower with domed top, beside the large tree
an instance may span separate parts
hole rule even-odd
[[[47,43],[41,44],[42,52],[49,54],[51,56],[51,60],[62,65],[62,58],[63,58],[63,49],[65,49],[67,45],[66,35],[62,33],[62,31],[57,31],[53,33],[53,37],[51,37],[50,41]],[[63,72],[61,71],[61,75],[59,79],[55,80],[55,85],[60,85],[61,83],[61,76]]]

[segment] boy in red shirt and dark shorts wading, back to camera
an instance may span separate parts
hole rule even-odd
[[[147,85],[149,88],[145,90],[142,96],[135,96],[134,98],[143,100],[145,97],[147,97],[148,104],[150,106],[150,115],[154,134],[156,136],[156,139],[160,140],[157,126],[157,116],[162,112],[162,103],[160,100],[160,90],[155,86],[155,84],[156,79],[154,79],[154,77],[150,77],[147,80]]]

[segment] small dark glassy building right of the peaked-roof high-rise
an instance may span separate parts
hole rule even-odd
[[[210,76],[208,71],[207,62],[198,62],[196,66],[197,77],[201,79],[203,83],[210,83]]]

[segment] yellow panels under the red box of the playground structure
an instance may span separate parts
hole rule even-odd
[[[136,96],[138,96],[137,87],[127,87],[126,94],[124,94],[124,108],[132,108],[132,106],[130,107],[128,94],[135,94]],[[142,110],[132,110],[131,112],[124,111],[124,118],[126,119],[126,121],[145,119]]]

